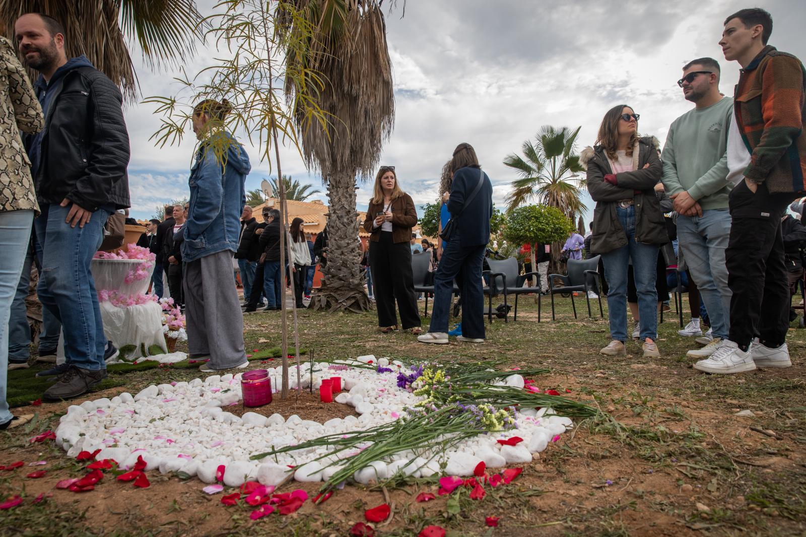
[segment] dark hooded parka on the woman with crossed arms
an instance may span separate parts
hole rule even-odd
[[[610,169],[604,148],[585,148],[580,154],[580,163],[588,170],[588,192],[596,202],[593,210],[592,254],[612,252],[626,246],[627,234],[617,214],[618,202],[626,199],[634,201],[635,240],[644,244],[669,242],[663,210],[654,192],[654,185],[663,175],[656,142],[653,136],[638,139],[638,169],[617,173],[617,185],[605,181],[605,175],[613,173],[613,170]],[[646,169],[645,164],[649,164]]]

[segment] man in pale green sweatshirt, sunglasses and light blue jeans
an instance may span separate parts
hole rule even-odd
[[[678,213],[679,246],[713,331],[710,343],[688,352],[692,358],[711,356],[728,337],[730,323],[725,248],[730,235],[728,194],[732,184],[727,180],[726,148],[733,99],[720,93],[719,76],[719,63],[713,58],[692,60],[683,67],[683,78],[677,83],[683,88],[683,98],[695,107],[671,124],[662,156],[663,186]],[[700,333],[699,327],[686,327],[685,335]]]

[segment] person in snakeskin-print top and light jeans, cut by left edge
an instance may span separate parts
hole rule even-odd
[[[6,24],[0,22],[0,34],[5,33]],[[23,153],[19,130],[29,135],[41,131],[44,117],[31,82],[14,53],[14,46],[5,37],[0,37],[0,97],[0,180],[3,185],[0,190],[0,429],[6,429],[15,419],[6,402],[10,309],[31,242],[31,225],[39,215],[31,169]],[[27,293],[27,283],[25,287]]]

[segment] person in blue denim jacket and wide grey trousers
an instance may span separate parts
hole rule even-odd
[[[229,102],[205,99],[193,107],[193,132],[201,141],[190,172],[188,221],[183,228],[185,319],[190,356],[210,356],[202,373],[245,368],[243,314],[232,284],[239,215],[246,203],[249,156],[226,131]],[[226,149],[218,157],[216,151]]]

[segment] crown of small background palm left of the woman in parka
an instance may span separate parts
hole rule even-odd
[[[517,170],[520,176],[511,183],[512,190],[506,197],[507,210],[536,201],[557,207],[571,219],[585,213],[584,183],[577,178],[583,168],[580,156],[575,153],[580,128],[571,131],[568,127],[544,125],[534,142],[527,139],[521,146],[523,157],[514,153],[505,157],[504,164]]]

